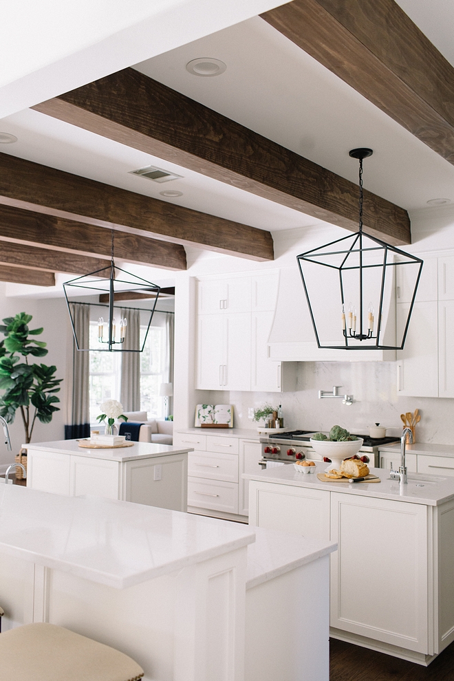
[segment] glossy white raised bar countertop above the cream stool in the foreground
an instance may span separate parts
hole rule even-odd
[[[255,528],[0,484],[0,554],[122,589],[255,541]]]

